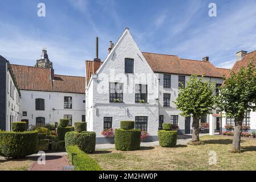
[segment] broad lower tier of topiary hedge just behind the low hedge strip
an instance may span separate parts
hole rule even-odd
[[[90,154],[95,151],[96,133],[92,131],[72,131],[65,135],[66,148],[68,146],[78,146],[80,150]]]

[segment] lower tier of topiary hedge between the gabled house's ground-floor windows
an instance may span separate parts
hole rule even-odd
[[[140,129],[115,130],[115,148],[116,150],[131,151],[140,148]]]

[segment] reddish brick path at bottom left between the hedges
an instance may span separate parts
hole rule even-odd
[[[64,166],[70,166],[66,155],[46,155],[45,165],[39,165],[36,161],[29,171],[63,171]]]

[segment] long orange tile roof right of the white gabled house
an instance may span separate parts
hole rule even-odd
[[[227,76],[228,69],[216,68],[209,61],[180,59],[174,55],[143,52],[153,72],[173,73],[180,75],[204,75],[222,78]]]

